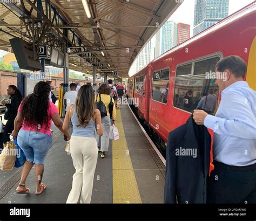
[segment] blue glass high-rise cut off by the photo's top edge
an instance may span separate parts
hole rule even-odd
[[[195,0],[193,35],[228,16],[229,0]]]

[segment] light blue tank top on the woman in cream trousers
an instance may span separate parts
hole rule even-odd
[[[95,121],[90,120],[86,127],[77,127],[77,112],[74,108],[74,113],[71,118],[73,125],[72,136],[95,137]]]

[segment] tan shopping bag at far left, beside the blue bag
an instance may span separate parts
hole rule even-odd
[[[0,170],[10,171],[14,168],[17,146],[14,141],[6,142],[0,155]]]

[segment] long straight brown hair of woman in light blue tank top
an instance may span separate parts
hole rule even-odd
[[[86,127],[91,118],[95,120],[95,93],[91,85],[83,85],[76,99],[77,127]]]

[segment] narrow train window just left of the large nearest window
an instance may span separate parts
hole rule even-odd
[[[152,100],[167,103],[169,92],[169,75],[169,68],[162,70],[161,72],[158,71],[154,73]]]

